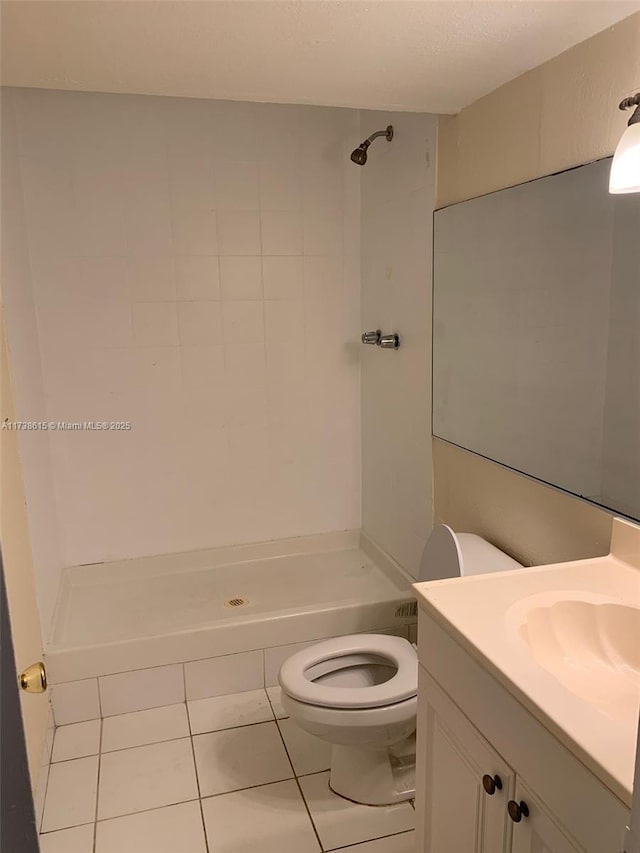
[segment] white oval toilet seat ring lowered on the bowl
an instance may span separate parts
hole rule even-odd
[[[382,664],[395,674],[382,684],[334,687],[313,679],[347,667]],[[288,658],[280,669],[280,686],[299,702],[323,708],[380,708],[410,699],[418,692],[418,658],[402,637],[352,634],[324,640]]]

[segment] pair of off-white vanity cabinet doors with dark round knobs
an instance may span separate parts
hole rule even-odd
[[[418,707],[419,853],[581,853],[422,667]]]

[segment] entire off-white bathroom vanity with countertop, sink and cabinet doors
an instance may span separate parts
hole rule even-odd
[[[616,519],[609,557],[415,585],[418,853],[624,849],[636,718],[606,647],[634,636],[638,532]]]

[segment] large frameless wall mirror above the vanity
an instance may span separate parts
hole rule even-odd
[[[640,194],[610,166],[436,211],[433,433],[640,519]]]

